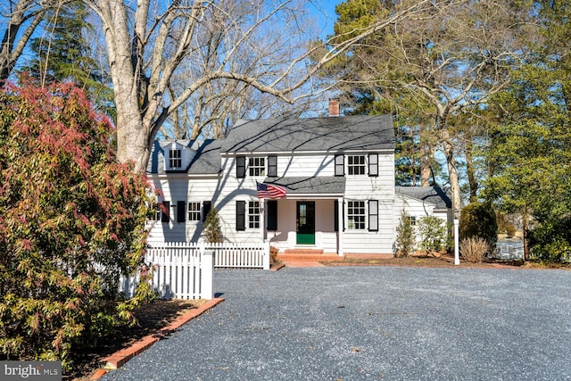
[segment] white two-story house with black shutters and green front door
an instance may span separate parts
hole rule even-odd
[[[451,220],[439,189],[394,186],[394,145],[389,115],[243,121],[225,139],[155,142],[147,174],[168,213],[149,243],[199,241],[216,208],[225,241],[393,253],[401,209]],[[259,183],[285,195],[259,198]]]

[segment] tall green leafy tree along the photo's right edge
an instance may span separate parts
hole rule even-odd
[[[485,196],[501,212],[521,216],[525,259],[530,244],[536,254],[564,258],[571,247],[571,8],[561,1],[534,3],[542,29],[533,55],[486,110]]]

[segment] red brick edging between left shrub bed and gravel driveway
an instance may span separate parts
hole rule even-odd
[[[220,302],[224,302],[224,298],[214,298],[208,302],[205,302],[203,305],[194,308],[190,311],[187,311],[185,314],[180,315],[177,319],[173,320],[168,326],[162,327],[157,332],[146,335],[142,339],[138,340],[135,344],[132,344],[128,348],[122,349],[118,352],[113,353],[111,356],[106,357],[102,360],[105,363],[103,369],[97,369],[93,375],[89,378],[89,381],[95,381],[103,377],[107,370],[112,369],[119,369],[128,360],[131,360],[133,357],[137,356],[137,354],[145,352],[148,348],[150,348],[153,344],[161,340],[166,335],[169,335],[171,332],[177,330],[180,326],[185,324],[188,320],[194,319],[197,316],[203,314],[205,311],[210,310],[215,305],[219,304]]]

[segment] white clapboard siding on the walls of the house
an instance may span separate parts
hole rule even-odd
[[[363,153],[366,154],[366,153]],[[256,157],[255,155],[245,155]],[[257,157],[267,157],[258,155]],[[320,195],[319,199],[307,198],[305,201],[315,202],[316,206],[316,243],[315,248],[325,253],[337,253],[339,234],[343,235],[343,253],[393,253],[395,229],[399,223],[403,207],[412,216],[429,215],[434,212],[434,205],[423,204],[418,200],[395,195],[394,192],[394,156],[393,153],[379,153],[378,176],[347,175],[347,160],[345,156],[345,194],[343,197],[344,221],[341,232],[335,232],[335,197],[327,199]],[[246,161],[247,166],[247,161]],[[335,154],[294,153],[293,155],[277,155],[278,177],[332,177],[335,176]],[[260,201],[256,195],[256,181],[263,181],[266,176],[251,177],[246,168],[245,178],[236,178],[236,158],[232,155],[222,156],[222,173],[216,176],[197,177],[186,174],[168,174],[154,176],[153,184],[161,189],[161,200],[170,201],[171,218],[169,223],[155,221],[149,242],[161,241],[198,241],[203,232],[203,221],[188,221],[178,223],[176,205],[188,202],[210,201],[211,207],[219,211],[222,235],[225,241],[236,243],[260,243],[262,239],[270,241],[280,250],[298,247],[296,238],[296,203],[300,201],[291,198],[277,202],[277,231],[265,232],[267,215],[261,219],[261,228],[249,228],[248,203]],[[368,231],[368,201],[378,202],[378,231]],[[244,231],[236,231],[236,201],[246,203],[246,227]],[[347,228],[347,203],[363,201],[366,207],[366,228]],[[264,214],[267,208],[264,205]],[[431,206],[432,205],[432,206]],[[446,213],[434,213],[444,220]],[[201,216],[202,217],[202,216]],[[343,229],[344,228],[344,229]]]

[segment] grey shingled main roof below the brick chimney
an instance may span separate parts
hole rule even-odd
[[[390,115],[242,121],[222,145],[226,153],[342,152],[394,149]]]

